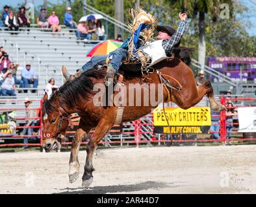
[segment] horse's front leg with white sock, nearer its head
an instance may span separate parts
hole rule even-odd
[[[89,131],[90,131],[90,128],[83,127],[83,122],[80,121],[79,129],[77,129],[71,145],[70,170],[68,172],[68,176],[70,177],[71,183],[75,182],[75,180],[77,180],[79,177],[79,167],[80,167],[79,160],[78,160],[79,147],[84,136],[86,136]]]

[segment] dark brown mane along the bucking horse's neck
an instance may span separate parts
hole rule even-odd
[[[73,81],[68,81],[62,85],[58,91],[51,94],[51,98],[44,102],[44,111],[47,114],[51,114],[59,107],[59,105],[67,105],[68,107],[75,106],[75,100],[78,100],[80,96],[83,98],[88,97],[88,94],[96,93],[93,91],[94,80],[103,79],[106,76],[105,69],[94,67],[86,72],[83,72],[81,76],[75,78]]]

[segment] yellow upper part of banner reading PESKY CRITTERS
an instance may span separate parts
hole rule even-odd
[[[202,126],[211,125],[211,109],[210,107],[191,107],[190,109],[181,108],[165,108],[166,117],[172,126]],[[154,114],[155,126],[168,126],[164,111],[161,107],[157,107]]]

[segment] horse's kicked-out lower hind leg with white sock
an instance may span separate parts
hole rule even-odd
[[[210,106],[211,109],[214,111],[224,111],[227,110],[224,105],[221,103],[217,102],[216,99],[214,98],[214,93],[213,93],[213,88],[211,82],[207,80],[201,87],[206,89],[206,94],[207,97],[209,98]]]

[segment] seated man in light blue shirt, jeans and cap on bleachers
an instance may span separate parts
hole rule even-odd
[[[33,84],[33,88],[37,88],[38,79],[36,78],[36,72],[34,69],[31,69],[31,63],[27,63],[26,67],[21,71],[21,80],[23,81],[23,87],[28,88],[29,84]],[[32,93],[36,91],[33,90]],[[27,90],[24,90],[24,93],[27,93]]]

